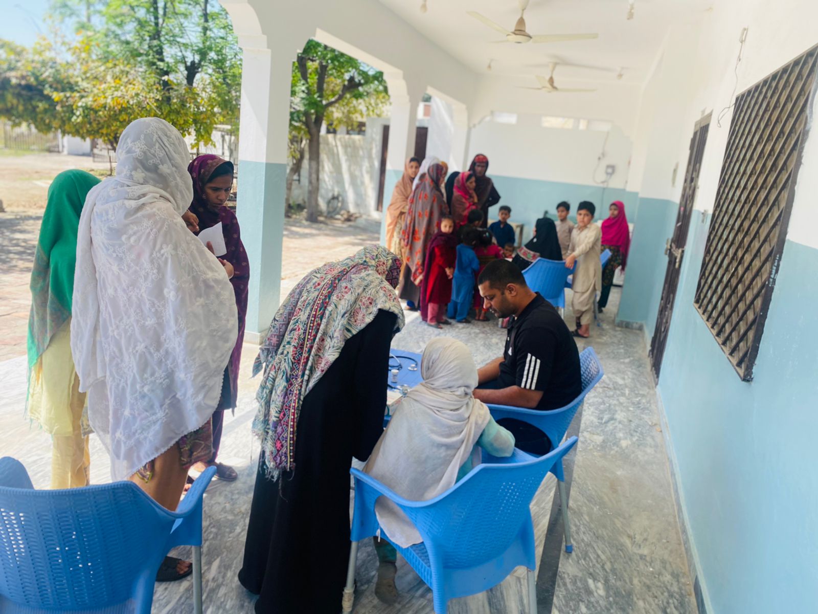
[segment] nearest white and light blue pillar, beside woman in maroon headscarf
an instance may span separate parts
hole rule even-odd
[[[296,47],[240,38],[244,52],[236,213],[249,257],[245,341],[263,340],[281,302],[290,83]]]

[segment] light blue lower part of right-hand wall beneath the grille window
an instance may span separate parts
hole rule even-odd
[[[786,242],[754,379],[739,379],[693,299],[708,224],[694,214],[659,394],[713,612],[818,603],[818,250]]]

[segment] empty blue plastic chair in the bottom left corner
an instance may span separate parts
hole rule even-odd
[[[0,612],[150,614],[170,549],[193,546],[202,612],[202,498],[216,467],[169,512],[129,481],[34,490],[25,467],[0,458]]]

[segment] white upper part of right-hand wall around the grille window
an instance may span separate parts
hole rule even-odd
[[[712,210],[732,111],[717,124],[717,115],[735,94],[818,43],[818,3],[789,0],[721,0],[703,13],[698,25],[678,26],[668,34],[657,69],[645,84],[636,125],[629,189],[640,196],[678,201],[681,180],[670,177],[679,163],[684,176],[690,136],[703,111],[713,119],[704,151],[698,210]],[[734,74],[739,34],[748,27],[742,61]],[[818,247],[818,131],[808,138],[799,172],[788,238]]]

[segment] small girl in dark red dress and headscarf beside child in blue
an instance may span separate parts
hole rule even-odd
[[[420,287],[421,314],[426,314],[430,327],[443,328],[451,324],[446,318],[446,305],[452,300],[452,276],[455,271],[457,237],[451,216],[440,219],[440,229],[429,242],[426,251],[425,275]],[[424,309],[425,306],[425,309]]]

